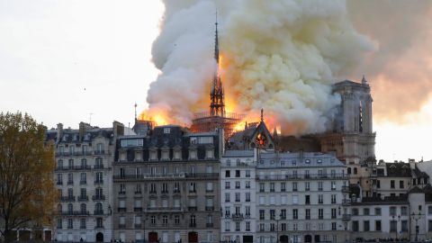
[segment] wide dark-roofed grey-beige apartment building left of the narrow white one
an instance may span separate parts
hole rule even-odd
[[[167,125],[117,140],[114,238],[122,242],[220,240],[222,130]]]

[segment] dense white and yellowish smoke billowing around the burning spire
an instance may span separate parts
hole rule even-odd
[[[285,133],[325,130],[340,102],[331,84],[373,49],[345,1],[166,0],[148,91],[149,114],[190,123],[207,109],[218,10],[222,79],[231,112],[264,108]]]

